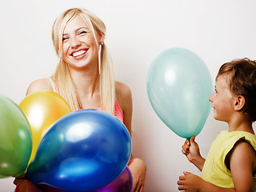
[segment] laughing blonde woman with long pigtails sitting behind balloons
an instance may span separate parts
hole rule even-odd
[[[118,117],[131,134],[132,97],[130,88],[114,81],[113,64],[104,43],[106,27],[100,18],[85,9],[66,10],[56,18],[52,40],[59,57],[55,74],[32,82],[26,94],[52,90],[72,110],[106,110]],[[146,165],[130,158],[133,191],[143,191]]]

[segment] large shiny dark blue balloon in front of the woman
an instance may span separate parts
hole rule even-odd
[[[122,174],[130,154],[130,134],[118,118],[102,110],[78,110],[50,127],[26,176],[58,190],[97,190]]]

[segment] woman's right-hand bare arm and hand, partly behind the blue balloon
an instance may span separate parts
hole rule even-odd
[[[130,92],[130,88],[122,82],[116,82],[116,90],[117,100],[120,107],[122,108],[123,122],[131,136],[131,120],[133,111],[132,94]],[[133,155],[131,155],[128,166],[134,179],[134,186],[132,191],[142,192],[146,178],[145,162],[143,162],[142,159],[134,158]]]

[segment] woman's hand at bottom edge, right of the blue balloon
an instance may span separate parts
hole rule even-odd
[[[129,166],[130,172],[133,175],[134,186],[133,192],[142,192],[144,190],[146,178],[146,165],[140,158],[134,158]]]

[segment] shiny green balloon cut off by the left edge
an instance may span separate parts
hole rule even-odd
[[[18,177],[26,171],[30,159],[30,124],[19,106],[2,94],[0,122],[0,175]]]

